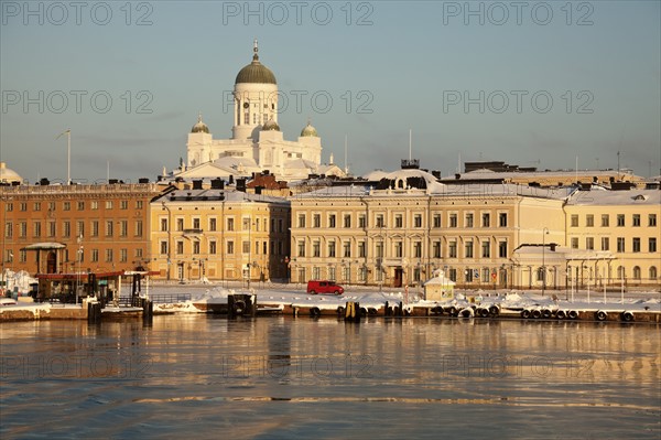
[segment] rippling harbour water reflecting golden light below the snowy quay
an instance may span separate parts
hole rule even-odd
[[[0,330],[2,437],[661,432],[655,325],[155,316]]]

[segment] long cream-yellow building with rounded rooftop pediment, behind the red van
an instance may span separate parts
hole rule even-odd
[[[564,244],[567,189],[445,185],[422,170],[383,173],[291,198],[295,282],[415,286],[443,269],[459,288],[511,287],[521,244]]]

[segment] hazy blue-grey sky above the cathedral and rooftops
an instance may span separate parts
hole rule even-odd
[[[0,159],[30,182],[66,179],[67,128],[88,182],[107,163],[130,181],[175,168],[198,111],[229,138],[224,94],[256,37],[289,98],[285,139],[311,118],[344,164],[346,135],[355,173],[398,168],[411,129],[444,174],[459,154],[604,169],[617,151],[659,174],[659,1],[25,4],[1,1]]]

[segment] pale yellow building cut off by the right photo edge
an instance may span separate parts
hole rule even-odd
[[[577,191],[567,201],[567,246],[584,255],[570,262],[585,286],[659,288],[661,191]]]

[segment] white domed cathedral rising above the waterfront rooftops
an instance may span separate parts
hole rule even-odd
[[[275,75],[259,61],[257,41],[253,52],[252,62],[235,81],[231,138],[214,139],[199,115],[188,133],[186,164],[174,176],[236,178],[263,170],[285,181],[308,174],[343,176],[337,165],[322,164],[322,140],[310,121],[296,141],[284,140],[278,125]]]

